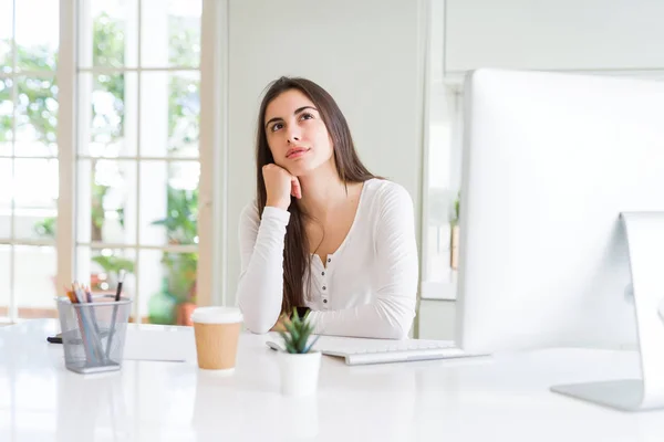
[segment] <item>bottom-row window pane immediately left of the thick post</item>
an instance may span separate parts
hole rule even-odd
[[[14,281],[19,317],[58,317],[54,301],[58,295],[56,259],[55,248],[17,245]]]

